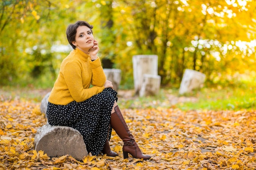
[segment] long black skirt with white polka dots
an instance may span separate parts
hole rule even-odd
[[[109,130],[111,110],[117,101],[117,92],[105,88],[101,93],[84,102],[71,102],[67,105],[48,103],[47,118],[52,126],[69,126],[83,135],[88,153],[98,155],[103,150]]]

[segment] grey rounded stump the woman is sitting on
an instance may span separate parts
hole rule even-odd
[[[81,133],[67,126],[46,124],[38,128],[34,144],[37,152],[43,150],[49,157],[71,155],[82,160],[88,155]]]

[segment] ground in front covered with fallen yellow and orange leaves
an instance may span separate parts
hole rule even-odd
[[[121,107],[121,106],[120,106]],[[119,157],[70,155],[49,158],[34,150],[37,129],[46,123],[40,102],[0,102],[0,170],[253,170],[256,169],[256,111],[125,109],[132,134],[150,160],[123,159],[122,141],[112,132]]]

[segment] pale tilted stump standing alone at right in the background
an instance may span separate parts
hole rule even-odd
[[[204,80],[205,74],[200,73],[199,71],[186,69],[180,84],[180,95],[189,93],[193,89],[200,88],[203,85]]]

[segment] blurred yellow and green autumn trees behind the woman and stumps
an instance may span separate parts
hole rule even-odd
[[[184,69],[205,86],[256,82],[254,0],[2,0],[0,86],[51,88],[70,53],[68,24],[94,26],[103,68],[121,69],[133,88],[132,56],[158,56],[161,86],[178,88]]]

